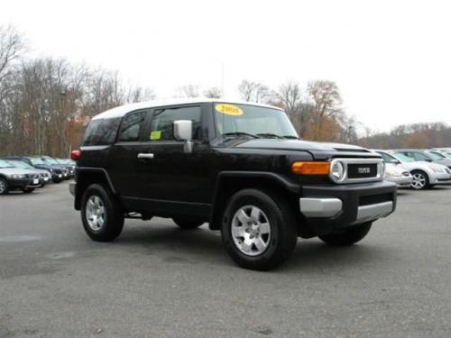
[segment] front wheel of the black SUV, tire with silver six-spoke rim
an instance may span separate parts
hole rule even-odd
[[[269,270],[287,260],[298,239],[289,205],[281,196],[253,188],[231,197],[221,232],[227,252],[238,265]]]

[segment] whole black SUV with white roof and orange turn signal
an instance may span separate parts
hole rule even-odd
[[[378,154],[299,140],[269,105],[119,106],[91,120],[72,160],[70,191],[94,241],[114,240],[127,217],[170,217],[183,229],[207,222],[248,269],[281,264],[298,237],[359,242],[396,206]]]

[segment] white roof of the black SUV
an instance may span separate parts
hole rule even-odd
[[[97,114],[92,118],[92,120],[98,120],[98,119],[110,119],[115,117],[122,117],[124,114],[127,114],[129,112],[132,112],[136,109],[145,109],[145,108],[153,108],[153,107],[159,107],[164,105],[187,105],[187,104],[202,104],[202,103],[230,103],[230,104],[236,104],[236,105],[258,105],[266,108],[272,108],[272,109],[279,109],[282,110],[279,107],[273,106],[273,105],[262,105],[262,104],[255,104],[252,102],[240,102],[240,101],[227,101],[227,100],[220,100],[220,99],[209,99],[209,98],[194,98],[194,99],[172,99],[168,101],[147,101],[147,102],[137,102],[134,104],[129,105],[119,105],[115,108],[106,110],[103,113]]]

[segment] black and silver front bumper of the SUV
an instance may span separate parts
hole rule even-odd
[[[387,181],[304,186],[299,210],[314,233],[331,233],[390,215],[396,208],[396,191],[396,184]]]

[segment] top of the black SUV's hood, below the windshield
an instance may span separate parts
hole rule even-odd
[[[310,142],[304,140],[253,139],[240,142],[235,147],[286,151],[358,151],[371,153],[371,151],[351,144]]]

